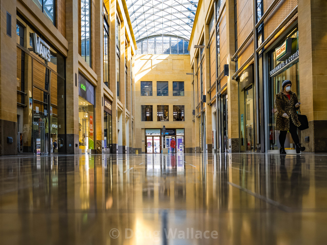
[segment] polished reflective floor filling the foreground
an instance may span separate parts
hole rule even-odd
[[[0,244],[326,244],[327,155],[0,158]]]

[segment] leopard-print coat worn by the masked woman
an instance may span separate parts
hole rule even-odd
[[[275,106],[277,109],[275,130],[289,130],[289,120],[292,120],[294,125],[297,127],[301,125],[296,112],[300,109],[300,106],[295,107],[295,104],[298,103],[298,97],[296,96],[296,93],[292,91],[289,91],[289,94],[290,99],[288,99],[284,91],[280,91],[275,96]],[[289,116],[289,119],[283,117],[284,113]]]

